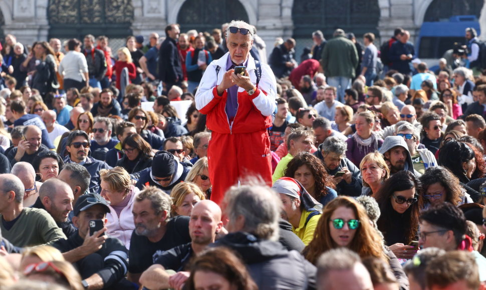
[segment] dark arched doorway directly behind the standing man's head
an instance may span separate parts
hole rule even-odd
[[[196,29],[211,32],[232,19],[249,22],[248,13],[238,0],[187,0],[177,14],[181,31]]]

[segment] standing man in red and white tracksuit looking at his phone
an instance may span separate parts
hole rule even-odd
[[[206,114],[211,139],[207,150],[211,200],[246,176],[260,175],[272,184],[268,128],[276,108],[276,81],[270,66],[250,55],[253,27],[231,21],[226,30],[229,49],[209,64],[195,95],[196,107]],[[246,66],[245,75],[235,66]]]

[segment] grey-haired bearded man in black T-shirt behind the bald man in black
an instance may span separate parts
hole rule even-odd
[[[138,283],[144,270],[153,264],[157,250],[168,250],[191,241],[189,217],[170,218],[172,199],[162,190],[149,186],[135,197],[132,213],[135,230],[128,253],[128,279]]]

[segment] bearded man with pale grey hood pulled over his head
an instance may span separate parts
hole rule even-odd
[[[390,174],[394,174],[401,170],[409,170],[416,177],[420,174],[413,168],[412,157],[408,150],[408,145],[402,136],[388,136],[383,141],[379,152],[390,168]]]

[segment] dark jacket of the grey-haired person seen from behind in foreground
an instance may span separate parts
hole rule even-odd
[[[315,289],[317,269],[298,251],[246,232],[228,233],[212,246],[227,246],[247,265],[259,289]]]

